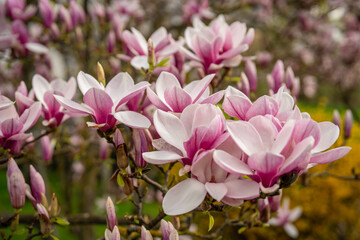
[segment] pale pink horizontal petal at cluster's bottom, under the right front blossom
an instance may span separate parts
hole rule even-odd
[[[232,180],[225,183],[228,189],[226,197],[251,200],[260,194],[259,184],[252,180]]]

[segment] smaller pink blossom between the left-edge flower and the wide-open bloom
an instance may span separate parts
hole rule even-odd
[[[68,82],[56,79],[49,83],[41,75],[36,74],[33,77],[32,84],[35,96],[43,106],[43,124],[45,126],[59,126],[69,118],[69,116],[65,115],[63,107],[56,101],[54,95],[71,100],[76,93],[76,81],[74,78],[70,78]]]

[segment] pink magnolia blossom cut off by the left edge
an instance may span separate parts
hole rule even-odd
[[[6,97],[0,96],[0,102],[9,101]],[[25,132],[36,123],[40,113],[39,102],[33,103],[20,116],[13,105],[0,110],[0,145],[10,149],[12,153],[19,153],[22,142],[32,136],[31,133]]]

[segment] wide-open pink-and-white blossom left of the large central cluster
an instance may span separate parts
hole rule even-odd
[[[149,86],[147,82],[134,85],[128,73],[119,73],[113,77],[106,87],[94,77],[80,72],[77,77],[80,91],[84,95],[84,104],[79,104],[62,96],[55,96],[58,102],[72,116],[90,115],[94,122],[88,122],[89,127],[101,131],[113,129],[118,122],[132,128],[148,128],[149,119],[140,113],[128,111],[125,104],[134,96]]]

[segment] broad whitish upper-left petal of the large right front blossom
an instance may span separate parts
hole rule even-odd
[[[227,128],[235,143],[247,155],[251,156],[264,150],[264,144],[259,133],[249,122],[228,122]]]

